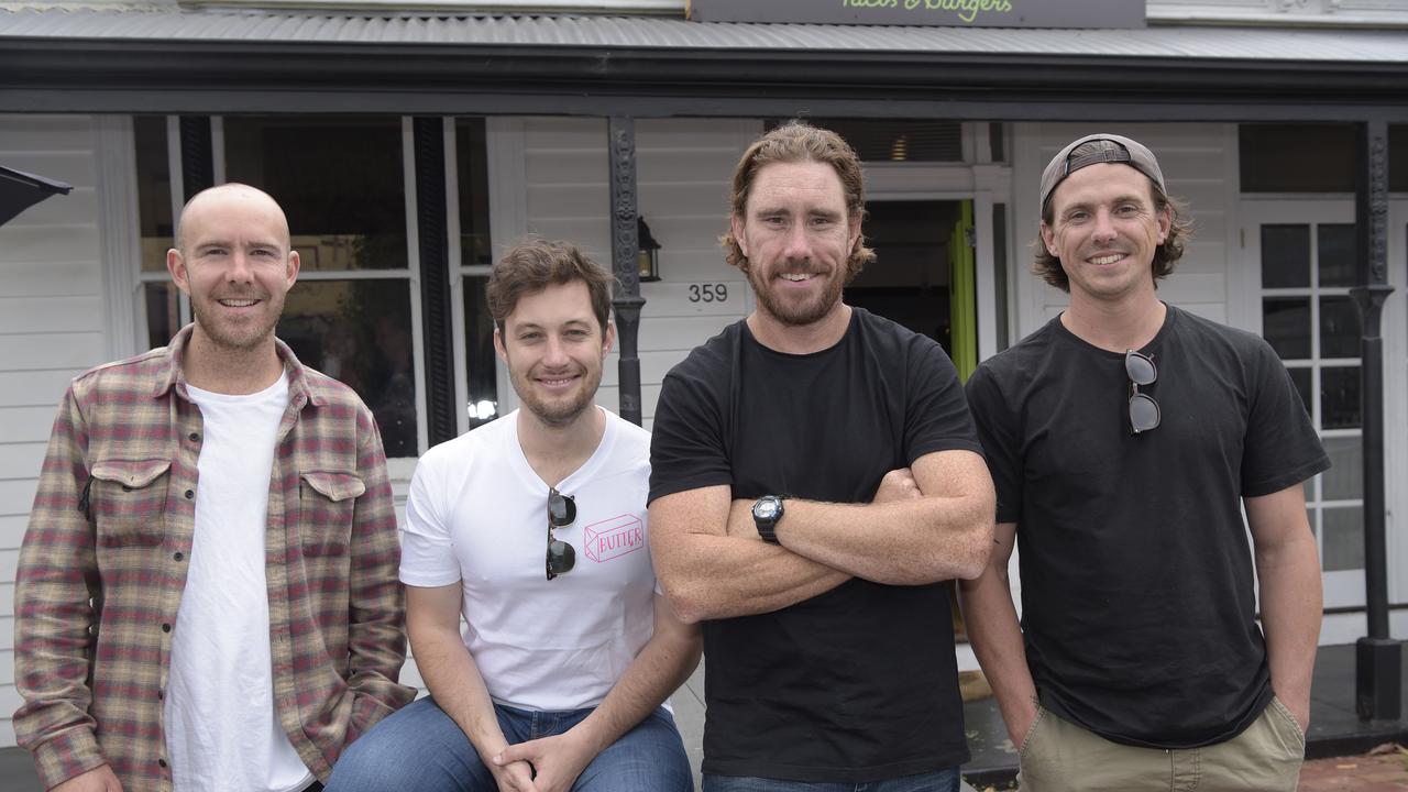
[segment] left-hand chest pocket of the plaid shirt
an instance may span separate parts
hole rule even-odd
[[[99,547],[161,544],[170,459],[104,459],[93,465],[89,509]]]

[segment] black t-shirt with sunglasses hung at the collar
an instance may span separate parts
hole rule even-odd
[[[1042,705],[1117,743],[1228,740],[1271,698],[1242,497],[1329,459],[1262,338],[1169,306],[1140,349],[1162,424],[1129,434],[1124,354],[1052,320],[967,395],[1017,523],[1026,662]]]

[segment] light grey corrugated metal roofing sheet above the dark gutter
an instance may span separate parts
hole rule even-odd
[[[0,38],[1408,62],[1408,31],[705,24],[612,16],[0,10]]]

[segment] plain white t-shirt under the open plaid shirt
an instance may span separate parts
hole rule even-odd
[[[196,536],[163,700],[177,792],[293,792],[313,782],[279,724],[265,528],[289,379],[248,396],[186,386],[204,419]]]

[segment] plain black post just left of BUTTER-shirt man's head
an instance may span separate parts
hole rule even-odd
[[[425,435],[429,445],[459,434],[451,321],[449,234],[445,217],[445,120],[411,121],[415,140],[415,230],[421,254],[421,335],[425,345]]]

